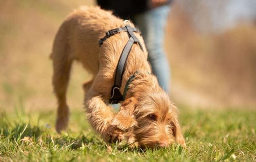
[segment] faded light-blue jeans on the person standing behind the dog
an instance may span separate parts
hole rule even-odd
[[[135,25],[142,32],[147,50],[148,60],[160,86],[170,91],[170,67],[164,50],[165,25],[170,5],[157,7],[134,16]]]

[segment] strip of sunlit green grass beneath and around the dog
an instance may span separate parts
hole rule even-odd
[[[55,111],[1,112],[0,161],[255,161],[255,110],[181,108],[187,147],[129,149],[107,145],[83,110],[71,112],[69,130],[54,131]]]

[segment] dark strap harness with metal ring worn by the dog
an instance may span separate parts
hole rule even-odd
[[[129,23],[129,25],[127,24],[127,22]],[[124,71],[125,71],[126,60],[127,60],[128,55],[129,55],[129,53],[131,51],[132,45],[134,43],[139,43],[140,48],[143,51],[143,47],[142,47],[141,42],[139,41],[139,39],[133,33],[133,32],[141,33],[140,30],[137,29],[137,28],[131,27],[129,20],[125,20],[124,21],[124,25],[125,25],[125,27],[109,30],[106,33],[106,36],[99,40],[99,45],[101,47],[101,45],[103,44],[103,42],[107,38],[109,38],[110,36],[115,35],[117,33],[128,32],[128,36],[129,36],[129,40],[126,43],[126,45],[125,45],[125,47],[123,49],[123,52],[122,52],[122,54],[121,54],[121,56],[119,58],[119,61],[117,63],[117,66],[116,66],[114,85],[112,86],[111,97],[110,97],[110,100],[109,100],[110,104],[117,104],[120,101],[124,100],[123,99],[123,95],[120,92],[120,88],[121,88],[121,85],[122,85],[122,79],[123,79],[123,74],[124,74]],[[126,85],[125,89],[127,89],[127,87],[128,87],[128,85]],[[126,91],[124,91],[124,94],[126,94]]]

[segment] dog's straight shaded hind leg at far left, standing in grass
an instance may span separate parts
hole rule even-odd
[[[50,58],[53,61],[52,84],[58,100],[56,130],[60,133],[66,129],[69,119],[69,108],[66,103],[66,91],[69,82],[72,59],[70,57],[67,32],[63,24],[57,32]]]

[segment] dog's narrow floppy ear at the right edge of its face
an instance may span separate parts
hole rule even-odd
[[[172,133],[173,133],[173,136],[175,137],[176,143],[180,144],[182,147],[186,147],[186,142],[182,135],[181,127],[178,119],[174,118],[174,120],[171,122],[171,125],[172,125]]]

